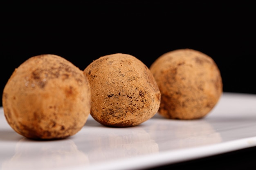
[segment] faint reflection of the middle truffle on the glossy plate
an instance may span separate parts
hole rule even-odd
[[[143,128],[132,127],[121,131],[115,128],[111,132],[108,128],[99,129],[87,134],[93,146],[87,152],[90,162],[110,161],[112,159],[123,159],[141,155],[156,154],[159,152],[158,144],[151,139],[148,132]]]

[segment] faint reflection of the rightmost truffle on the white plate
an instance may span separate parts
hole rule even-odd
[[[163,121],[165,119],[163,117],[152,119],[154,121],[148,126],[149,134],[151,139],[161,143],[160,151],[200,147],[223,141],[218,130],[205,119],[191,121],[174,119]],[[170,129],[172,130],[170,131]],[[163,139],[165,140],[163,141]]]

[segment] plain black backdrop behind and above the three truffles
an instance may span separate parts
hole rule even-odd
[[[225,92],[256,94],[255,14],[253,4],[235,2],[2,4],[0,94],[14,69],[35,55],[60,55],[83,70],[103,55],[127,53],[149,67],[181,48],[211,56]]]

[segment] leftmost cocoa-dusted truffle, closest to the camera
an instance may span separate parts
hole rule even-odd
[[[76,134],[90,115],[90,84],[83,71],[57,55],[29,58],[4,87],[2,104],[9,125],[31,139]]]

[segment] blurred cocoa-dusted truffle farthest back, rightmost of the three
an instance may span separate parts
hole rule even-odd
[[[159,89],[159,114],[170,119],[198,119],[207,115],[222,95],[222,78],[208,55],[177,49],[150,66]]]

